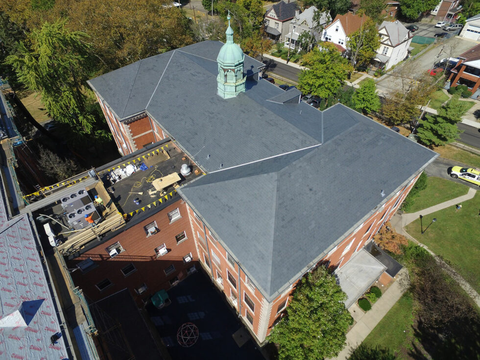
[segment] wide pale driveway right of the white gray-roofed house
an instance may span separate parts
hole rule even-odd
[[[417,34],[417,32],[415,32],[415,34]],[[476,42],[457,36],[445,41],[433,43],[420,57],[408,59],[405,63],[399,67],[396,67],[393,71],[385,74],[377,82],[379,95],[389,96],[395,92],[402,91],[402,69],[407,68],[405,70],[408,70],[406,71],[406,73],[408,73],[408,77],[410,79],[415,79],[422,73],[425,73],[427,70],[432,69],[433,65],[441,59],[446,57],[457,57],[458,55],[467,51],[469,48],[473,48],[475,45],[477,45]]]

